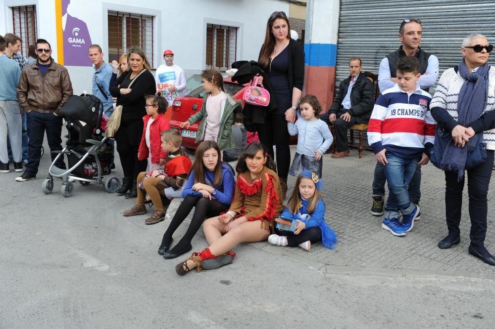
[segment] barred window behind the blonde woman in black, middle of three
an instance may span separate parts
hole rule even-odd
[[[108,11],[108,60],[118,60],[128,49],[138,46],[154,67],[153,16]]]

